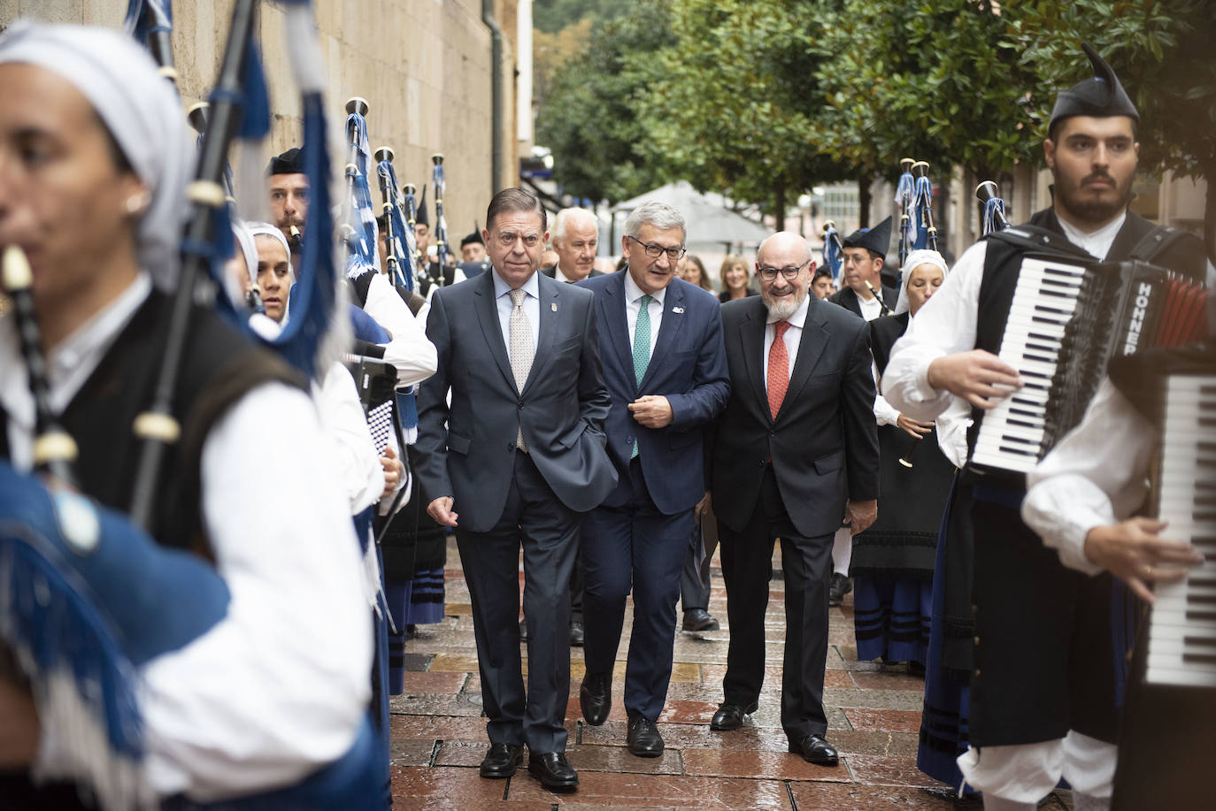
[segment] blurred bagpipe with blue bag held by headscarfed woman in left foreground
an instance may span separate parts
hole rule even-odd
[[[302,283],[293,292],[297,306],[278,337],[268,340],[249,331],[247,319],[226,297],[215,297],[215,308],[233,316],[233,323],[252,340],[269,345],[311,376],[336,300],[327,223],[323,75],[310,4],[286,0],[282,5],[304,95],[305,164],[314,190],[308,227],[315,236],[304,244]],[[181,275],[164,334],[158,336],[163,351],[154,394],[133,426],[139,454],[125,513],[100,506],[74,486],[75,443],[50,406],[29,266],[17,248],[7,248],[4,255],[2,281],[13,303],[35,402],[36,435],[33,475],[0,462],[0,649],[13,653],[11,658],[0,655],[0,661],[17,669],[0,677],[12,676],[28,685],[40,725],[56,731],[54,738],[63,748],[57,766],[63,773],[55,777],[86,787],[107,811],[159,806],[143,773],[147,739],[139,669],[207,633],[224,619],[230,601],[227,585],[213,565],[191,552],[158,544],[151,529],[169,449],[182,434],[174,398],[197,295],[207,288],[208,278],[220,277],[219,267],[232,253],[229,190],[224,185],[229,146],[236,136],[269,131],[265,84],[253,39],[258,7],[258,0],[235,2],[219,75],[202,120],[197,175],[187,187],[191,214],[181,241]],[[161,73],[171,81],[168,0],[131,0],[125,26],[148,44]],[[366,722],[345,755],[297,785],[215,804],[175,800],[174,807],[382,809],[382,755]]]

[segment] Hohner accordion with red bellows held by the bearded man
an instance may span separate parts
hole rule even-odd
[[[1113,357],[1206,331],[1207,292],[1144,261],[1026,257],[1000,357],[1024,387],[984,413],[972,464],[1026,473],[1085,413]]]

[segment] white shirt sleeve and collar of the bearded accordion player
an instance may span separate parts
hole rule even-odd
[[[1126,214],[1088,235],[1076,235],[1073,229],[1069,240],[1092,255],[1104,258],[1124,219]],[[976,242],[968,248],[891,348],[882,393],[893,406],[913,419],[934,419],[953,399],[950,392],[929,385],[929,365],[944,355],[975,348],[976,310],[986,255],[987,242]]]

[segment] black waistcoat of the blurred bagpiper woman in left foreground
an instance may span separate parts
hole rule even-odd
[[[125,511],[137,466],[131,424],[152,401],[170,299],[153,291],[60,417],[75,438],[80,488]],[[210,310],[195,308],[173,399],[181,439],[170,447],[159,486],[152,536],[165,546],[206,550],[199,514],[202,445],[229,406],[260,383],[303,385],[276,355],[257,348]],[[0,412],[0,455],[9,456],[7,418]],[[274,452],[268,441],[266,452]]]

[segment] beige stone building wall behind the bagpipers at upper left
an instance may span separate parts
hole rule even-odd
[[[235,0],[175,0],[174,60],[182,101],[204,97],[215,80]],[[503,112],[499,137],[503,185],[512,185],[518,153],[514,128],[516,0],[495,0],[503,30]],[[372,148],[390,146],[400,182],[430,184],[430,156],[444,154],[444,208],[452,242],[484,225],[492,180],[490,32],[480,0],[316,0],[326,61],[331,123],[340,128],[351,96],[367,100]],[[125,0],[0,0],[0,24],[27,16],[118,28]],[[270,150],[299,142],[299,95],[291,75],[282,6],[261,4],[259,36],[271,94]],[[340,145],[337,133],[334,150]],[[331,152],[338,167],[344,151]],[[372,187],[378,207],[378,190]],[[434,203],[428,190],[427,203]],[[433,208],[432,208],[433,215]]]

